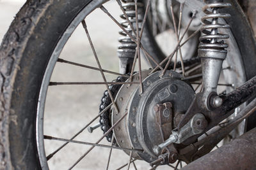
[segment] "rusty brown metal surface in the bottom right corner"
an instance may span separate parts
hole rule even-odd
[[[255,169],[256,167],[256,128],[240,138],[222,146],[195,162],[186,169]],[[216,159],[221,158],[221,159]]]

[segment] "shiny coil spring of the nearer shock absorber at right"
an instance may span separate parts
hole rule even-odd
[[[213,3],[204,6],[203,10],[206,15],[202,17],[204,25],[201,27],[201,32],[205,35],[200,37],[201,43],[199,48],[214,49],[219,50],[220,52],[223,52],[224,50],[227,52],[225,48],[228,47],[228,44],[224,43],[223,39],[228,39],[229,36],[228,34],[218,33],[218,29],[230,29],[230,25],[220,24],[218,19],[231,17],[228,13],[219,12],[220,8],[227,8],[230,6],[230,3],[223,3],[221,1],[213,1]],[[220,41],[220,39],[222,40]]]

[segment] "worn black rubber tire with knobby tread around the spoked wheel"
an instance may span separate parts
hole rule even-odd
[[[45,67],[65,29],[88,3],[90,0],[28,1],[4,36],[0,48],[0,169],[41,169],[35,119]],[[232,4],[230,25],[244,66],[252,66],[246,67],[247,78],[251,78],[256,74],[255,40],[240,6],[236,1]]]

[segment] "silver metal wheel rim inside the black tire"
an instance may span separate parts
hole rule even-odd
[[[37,148],[38,148],[38,155],[40,158],[40,164],[43,169],[49,169],[49,167],[47,165],[47,159],[46,159],[45,149],[44,149],[44,130],[43,129],[44,129],[44,106],[45,106],[45,100],[46,100],[46,93],[47,93],[49,82],[51,80],[52,71],[54,69],[54,66],[55,66],[57,60],[58,60],[61,50],[63,49],[63,46],[67,42],[68,38],[71,36],[72,32],[74,32],[77,25],[79,25],[81,23],[81,21],[90,12],[92,12],[95,9],[95,8],[93,8],[93,6],[97,7],[101,3],[104,3],[104,1],[97,1],[97,2],[92,1],[92,3],[90,3],[90,6],[89,5],[86,6],[84,8],[84,10],[81,11],[81,13],[79,13],[79,15],[77,15],[77,17],[72,21],[72,23],[68,27],[67,31],[63,34],[60,41],[58,42],[58,45],[56,46],[54,52],[52,53],[51,59],[49,61],[47,69],[45,71],[44,80],[42,82],[42,87],[40,90],[40,97],[38,100],[38,109],[37,109],[37,118],[36,118],[36,143],[37,143]],[[234,37],[231,36],[230,39],[231,39],[230,41],[232,41],[232,40],[234,40]],[[230,43],[230,44],[231,44],[231,46],[230,46],[231,49],[238,49],[236,43]],[[230,64],[233,64],[236,59],[241,61],[241,56],[236,55],[236,57],[234,57],[233,53],[239,53],[239,52],[237,52],[237,51],[229,52],[228,57],[227,57],[227,62],[225,62],[225,64],[223,64],[223,67],[230,66]],[[239,64],[241,64],[241,63],[242,62],[239,62]],[[238,69],[238,71],[237,70],[234,71],[236,73],[232,72],[232,74],[233,74],[232,76],[230,76],[230,74],[231,74],[230,71],[225,73],[225,75],[227,76],[227,78],[225,78],[225,80],[227,80],[227,83],[232,82],[232,84],[233,84],[235,82],[234,86],[237,87],[245,81],[245,76],[244,76],[243,66],[237,66],[237,63],[232,66],[235,66],[235,65],[236,65],[236,67],[238,67],[240,69]],[[232,79],[232,78],[234,78],[234,74],[239,74],[239,77],[241,77],[241,79],[239,79],[239,81],[237,81],[237,80],[234,81],[234,79]],[[232,89],[232,88],[230,88],[230,89]]]

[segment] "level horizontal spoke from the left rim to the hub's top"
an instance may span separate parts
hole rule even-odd
[[[140,82],[50,82],[49,86],[53,85],[129,85],[139,84]]]

